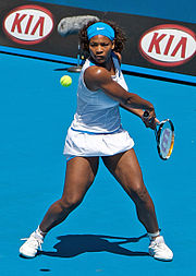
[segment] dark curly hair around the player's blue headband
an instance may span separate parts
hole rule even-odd
[[[86,53],[89,53],[89,40],[87,37],[87,28],[91,26],[93,24],[95,24],[96,22],[103,22],[110,25],[114,29],[115,38],[114,38],[113,51],[121,52],[124,48],[124,44],[126,40],[125,34],[114,22],[105,21],[105,20],[101,20],[101,21],[94,20],[94,21],[88,22],[85,26],[83,26],[83,28],[78,33],[82,50]]]

